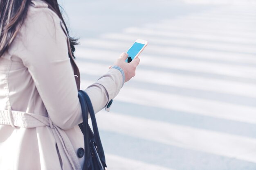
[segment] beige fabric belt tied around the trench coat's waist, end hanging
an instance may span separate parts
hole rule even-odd
[[[11,116],[9,115],[10,113]],[[23,128],[36,128],[41,126],[51,127],[57,146],[62,146],[73,170],[81,170],[81,165],[70,139],[67,137],[65,131],[52,123],[50,118],[22,111],[0,110],[0,124],[14,125]]]

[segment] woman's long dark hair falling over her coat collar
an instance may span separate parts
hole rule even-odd
[[[63,19],[57,0],[44,0],[49,8],[54,11],[65,25],[69,35],[67,25]],[[31,0],[0,0],[0,57],[9,49],[13,39],[16,37],[22,26],[29,8]],[[74,57],[77,40],[69,36],[72,56]],[[74,57],[75,58],[75,57]]]

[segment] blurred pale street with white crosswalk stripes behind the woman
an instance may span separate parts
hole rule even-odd
[[[96,116],[109,170],[256,170],[255,0],[60,2],[81,89],[149,42]]]

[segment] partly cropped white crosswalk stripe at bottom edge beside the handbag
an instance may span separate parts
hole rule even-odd
[[[111,154],[106,154],[106,162],[109,170],[174,170]]]

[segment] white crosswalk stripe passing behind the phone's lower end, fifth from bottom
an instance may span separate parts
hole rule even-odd
[[[86,54],[82,54],[82,51],[86,51]],[[76,57],[78,58],[94,59],[96,61],[110,61],[111,63],[114,62],[117,59],[117,57],[119,57],[119,55],[120,54],[118,52],[93,49],[79,50],[79,52],[76,53]],[[175,59],[167,57],[157,57],[157,61],[159,62],[155,62],[155,60],[155,56],[141,54],[140,65],[243,78],[256,78],[256,68],[254,67],[245,67],[239,65],[229,65],[196,60]]]

